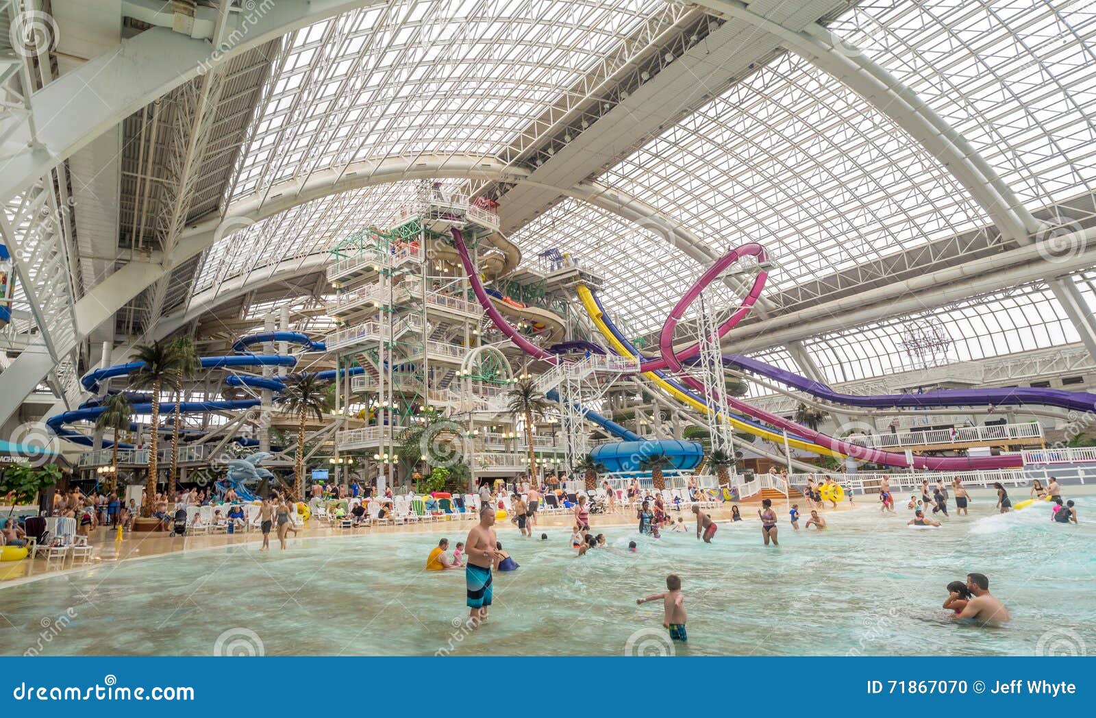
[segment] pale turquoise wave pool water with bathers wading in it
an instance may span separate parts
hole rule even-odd
[[[1096,520],[1051,523],[1037,505],[997,515],[975,493],[969,517],[944,528],[905,526],[876,505],[831,513],[824,533],[780,546],[758,523],[720,522],[712,544],[695,533],[635,535],[604,528],[610,548],[575,557],[569,534],[500,540],[522,568],[495,573],[482,627],[465,627],[464,571],[426,572],[438,535],[293,540],[168,555],[0,589],[0,653],[50,654],[1050,654],[1096,650]],[[686,516],[686,523],[692,514]],[[454,527],[463,540],[468,525]],[[630,539],[639,550],[627,550]],[[983,628],[940,608],[949,581],[990,577],[1013,622]],[[665,577],[682,577],[688,643],[670,645]]]

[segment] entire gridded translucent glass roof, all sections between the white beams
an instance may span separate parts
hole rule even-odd
[[[295,33],[227,198],[361,160],[504,156],[602,55],[666,7],[408,0]],[[951,123],[1029,209],[1093,190],[1096,3],[865,0],[830,27]],[[595,179],[713,250],[765,244],[778,264],[769,299],[990,221],[935,157],[796,55],[760,67]],[[313,201],[222,239],[195,290],[385,224],[412,186]],[[557,203],[512,239],[526,258],[560,247],[595,263],[606,305],[635,333],[661,324],[700,271],[657,236],[578,201]],[[838,284],[825,286],[847,288]],[[1087,280],[1078,286],[1092,303]],[[817,338],[807,349],[831,381],[899,371],[909,366],[901,327],[929,318],[948,326],[956,360],[1077,341],[1040,285]]]

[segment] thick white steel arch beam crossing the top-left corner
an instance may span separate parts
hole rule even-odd
[[[30,116],[13,129],[2,148],[4,155],[16,152],[0,168],[0,203],[133,113],[212,67],[295,30],[386,2],[256,0],[254,8],[235,15],[236,25],[226,31],[218,47],[168,27],[152,27],[124,39],[32,95]]]

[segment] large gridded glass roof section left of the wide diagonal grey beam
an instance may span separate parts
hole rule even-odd
[[[295,33],[231,198],[351,162],[494,157],[661,0],[393,2]]]

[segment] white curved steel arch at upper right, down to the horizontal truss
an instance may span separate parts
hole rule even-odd
[[[854,90],[932,152],[979,203],[1007,239],[1031,241],[1038,219],[958,132],[863,52],[822,25],[797,31],[773,22],[739,0],[694,0],[716,14],[747,23],[780,38],[788,49]],[[838,50],[837,47],[844,49]]]

